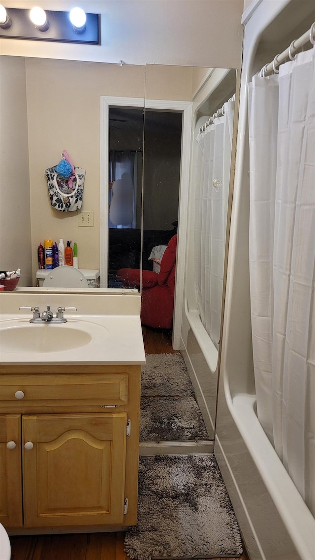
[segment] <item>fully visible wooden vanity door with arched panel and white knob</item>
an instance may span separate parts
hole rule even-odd
[[[22,417],[25,528],[123,524],[126,422],[125,412]]]

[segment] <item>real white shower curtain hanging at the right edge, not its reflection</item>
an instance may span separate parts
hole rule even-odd
[[[315,515],[315,47],[248,86],[258,418]]]

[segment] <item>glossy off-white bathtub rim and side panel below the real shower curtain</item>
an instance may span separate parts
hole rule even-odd
[[[214,451],[251,560],[313,560],[314,517],[262,430],[255,395],[232,398],[226,375],[222,385]]]

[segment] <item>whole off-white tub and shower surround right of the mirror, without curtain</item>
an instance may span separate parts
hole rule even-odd
[[[305,30],[304,20],[313,21],[313,4],[301,2],[299,8],[297,12],[291,0],[257,0],[243,15],[246,26],[214,454],[250,560],[315,559],[314,517],[256,416],[248,263],[247,82]]]

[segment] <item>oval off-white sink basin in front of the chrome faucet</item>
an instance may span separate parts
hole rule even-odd
[[[12,325],[0,330],[1,346],[5,352],[42,353],[62,352],[85,346],[91,342],[86,330],[68,325]]]

